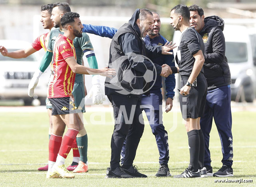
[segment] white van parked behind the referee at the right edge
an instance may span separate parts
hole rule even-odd
[[[256,29],[241,25],[224,26],[226,57],[231,73],[231,100],[252,102],[256,96]],[[181,33],[173,42],[179,46]],[[177,48],[173,49],[176,55]],[[175,77],[179,78],[175,75]],[[179,80],[179,79],[178,79]],[[179,85],[179,82],[176,81]]]

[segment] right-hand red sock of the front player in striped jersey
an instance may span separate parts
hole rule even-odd
[[[76,139],[76,135],[79,133],[76,129],[69,128],[67,133],[64,135],[60,151],[58,154],[60,156],[63,156],[64,158],[67,158],[68,153],[70,152],[71,145],[73,144],[74,140]],[[58,149],[57,149],[58,150]],[[56,156],[57,158],[57,156]],[[56,161],[56,159],[55,159]]]

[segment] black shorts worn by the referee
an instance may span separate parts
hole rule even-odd
[[[182,88],[186,85],[188,78],[181,78]],[[192,83],[191,83],[192,84]],[[199,73],[197,77],[197,86],[191,87],[188,95],[180,94],[180,108],[182,118],[199,118],[204,115],[205,103],[206,103],[206,94],[207,94],[207,82],[203,73]]]

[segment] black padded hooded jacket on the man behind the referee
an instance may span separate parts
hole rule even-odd
[[[205,18],[200,35],[205,44],[204,75],[208,90],[231,84],[231,75],[225,56],[224,21],[218,16]]]

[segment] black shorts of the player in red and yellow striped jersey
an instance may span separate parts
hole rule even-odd
[[[76,113],[76,107],[70,97],[64,98],[49,98],[52,105],[51,115],[61,114],[74,114]]]

